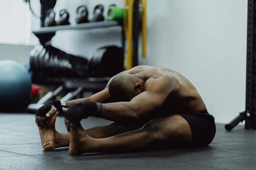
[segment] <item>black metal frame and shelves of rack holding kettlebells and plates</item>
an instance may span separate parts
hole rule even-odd
[[[78,23],[75,25],[61,25],[61,26],[52,26],[52,27],[43,27],[43,22],[46,16],[46,11],[54,8],[56,0],[40,0],[41,4],[41,27],[39,29],[32,30],[32,33],[39,38],[40,44],[44,44],[49,41],[53,36],[55,36],[57,31],[66,31],[66,30],[86,30],[86,29],[97,29],[97,28],[109,28],[109,27],[121,27],[121,40],[122,40],[122,49],[125,50],[125,34],[122,21],[115,20],[105,20],[105,21],[96,21],[96,22],[87,22],[87,23]],[[139,0],[134,1],[133,6],[134,16],[139,14]],[[138,36],[139,36],[139,19],[134,17],[133,20],[133,50],[132,50],[132,60],[133,67],[138,65]],[[32,83],[41,84],[41,85],[57,85],[63,86],[65,89],[74,90],[79,87],[83,88],[83,91],[100,91],[105,88],[106,84],[110,80],[110,77],[88,77],[88,78],[55,78],[55,77],[43,77],[43,76],[33,76]]]

